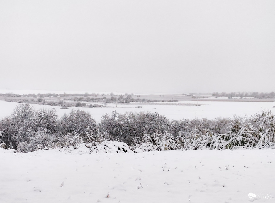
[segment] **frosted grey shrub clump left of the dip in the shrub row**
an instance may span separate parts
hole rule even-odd
[[[20,152],[108,139],[108,135],[101,134],[91,114],[86,111],[72,110],[69,115],[58,118],[55,109],[36,111],[29,104],[19,104],[11,116],[0,121],[0,129],[4,131],[0,141],[10,146],[9,140],[12,140],[12,148]]]

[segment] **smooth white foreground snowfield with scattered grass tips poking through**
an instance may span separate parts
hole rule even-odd
[[[275,202],[274,152],[0,148],[0,202]]]

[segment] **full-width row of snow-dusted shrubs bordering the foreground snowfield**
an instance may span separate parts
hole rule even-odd
[[[36,111],[20,104],[0,121],[0,131],[1,147],[20,152],[83,143],[94,143],[91,152],[98,152],[108,147],[103,141],[123,142],[135,151],[275,147],[275,117],[269,110],[250,118],[172,121],[158,113],[113,111],[96,123],[86,111],[72,110],[58,118],[54,109]]]

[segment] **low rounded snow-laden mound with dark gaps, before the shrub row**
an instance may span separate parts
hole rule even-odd
[[[101,144],[91,147],[90,153],[125,153],[133,152],[124,142],[103,141]]]

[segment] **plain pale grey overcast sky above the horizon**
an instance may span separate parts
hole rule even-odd
[[[0,0],[0,89],[275,91],[275,1]]]

